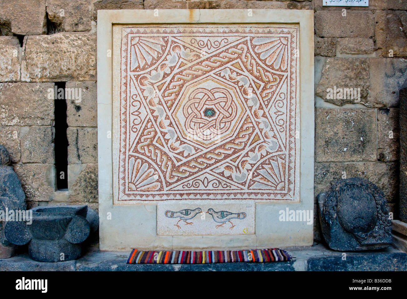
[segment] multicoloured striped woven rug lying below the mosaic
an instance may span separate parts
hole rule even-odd
[[[209,264],[228,262],[287,262],[291,256],[283,249],[227,251],[138,251],[133,249],[127,264]]]

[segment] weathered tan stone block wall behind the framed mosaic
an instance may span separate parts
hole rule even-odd
[[[313,9],[315,196],[334,179],[364,177],[383,190],[397,218],[398,90],[407,78],[403,0],[352,8],[322,7],[322,0],[0,0],[0,144],[11,153],[28,207],[97,209],[98,9]],[[66,100],[68,190],[56,186],[49,99],[55,82],[82,91],[79,103]],[[330,97],[334,87],[359,88],[360,98]],[[318,229],[316,223],[317,240]]]

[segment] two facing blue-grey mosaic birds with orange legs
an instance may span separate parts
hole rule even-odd
[[[177,221],[176,224],[174,224],[174,226],[178,227],[178,229],[181,229],[181,227],[178,225],[179,221],[184,220],[185,225],[192,225],[193,222],[188,222],[187,220],[191,220],[192,218],[197,216],[199,213],[203,213],[203,212],[200,207],[197,207],[194,210],[193,209],[183,209],[183,210],[179,210],[177,212],[166,210],[165,216],[167,218],[179,218],[179,220]],[[215,225],[215,228],[223,227],[223,225],[225,223],[229,222],[232,225],[231,227],[229,227],[230,230],[232,230],[236,226],[230,220],[232,220],[232,219],[242,220],[242,219],[246,218],[245,212],[240,212],[240,213],[232,213],[232,212],[228,212],[228,211],[216,212],[215,210],[213,210],[211,208],[211,209],[208,209],[208,211],[206,213],[210,214],[216,223],[221,223],[221,224]]]

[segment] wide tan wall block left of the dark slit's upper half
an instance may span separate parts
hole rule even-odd
[[[50,126],[54,100],[49,90],[54,83],[0,83],[0,125]]]

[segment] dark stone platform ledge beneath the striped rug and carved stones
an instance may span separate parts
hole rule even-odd
[[[389,247],[379,251],[342,252],[323,244],[284,248],[290,262],[222,264],[126,264],[130,252],[90,250],[67,262],[36,262],[27,254],[0,259],[2,271],[407,271],[407,254]]]

